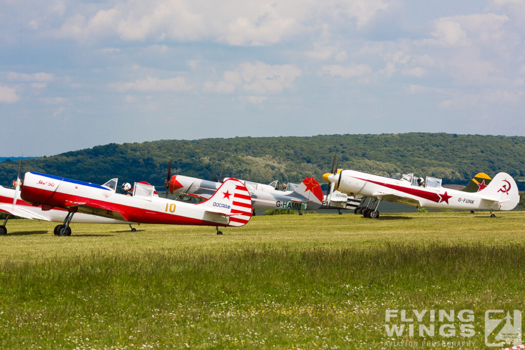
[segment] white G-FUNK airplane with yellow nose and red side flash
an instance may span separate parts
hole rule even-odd
[[[512,210],[519,201],[518,186],[507,173],[498,173],[488,185],[480,184],[478,192],[469,193],[444,188],[440,178],[427,176],[425,179],[413,174],[391,178],[359,172],[351,169],[337,169],[337,172],[323,175],[330,183],[330,189],[359,199],[370,197],[376,203],[363,210],[369,218],[379,217],[377,208],[382,200],[394,201],[417,207],[438,209]],[[481,186],[483,188],[481,189]]]

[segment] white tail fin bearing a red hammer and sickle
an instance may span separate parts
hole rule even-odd
[[[479,191],[479,194],[484,200],[496,202],[499,210],[512,210],[520,200],[518,185],[507,173],[496,174],[490,184]]]

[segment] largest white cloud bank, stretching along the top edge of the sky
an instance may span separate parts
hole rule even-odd
[[[82,41],[118,36],[127,41],[211,40],[233,46],[281,43],[323,24],[368,24],[387,0],[245,2],[152,0],[118,3],[95,12],[91,6],[65,19],[55,34]],[[89,13],[91,11],[91,14]]]

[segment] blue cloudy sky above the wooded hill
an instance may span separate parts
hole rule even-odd
[[[523,136],[523,23],[525,0],[0,0],[0,156],[206,137]]]

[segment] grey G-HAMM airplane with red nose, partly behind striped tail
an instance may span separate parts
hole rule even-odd
[[[243,181],[251,196],[254,209],[315,210],[321,206],[323,193],[313,177],[305,178],[297,188],[281,191],[275,185]],[[274,183],[272,183],[274,184]],[[173,175],[166,187],[175,196],[209,198],[221,184],[196,177]]]

